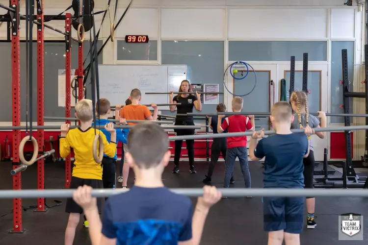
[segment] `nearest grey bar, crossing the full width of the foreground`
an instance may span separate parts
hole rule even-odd
[[[367,190],[352,190],[352,189],[292,189],[292,188],[220,188],[217,189],[222,196],[227,197],[245,197],[245,196],[339,196],[339,197],[368,197]],[[1,190],[1,199],[12,198],[70,198],[73,197],[75,189],[50,189],[50,190]],[[129,189],[94,189],[92,196],[108,197],[128,192]],[[203,189],[200,188],[174,188],[170,191],[184,196],[203,196]]]

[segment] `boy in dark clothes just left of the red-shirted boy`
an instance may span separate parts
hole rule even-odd
[[[216,113],[217,112],[225,112],[226,111],[226,105],[220,103],[216,106]],[[223,123],[225,120],[225,118],[222,118],[221,123]],[[217,134],[217,117],[209,117],[209,121],[210,121],[210,129],[212,129],[214,134]],[[224,131],[224,133],[226,133],[227,130]],[[208,173],[206,176],[206,178],[203,180],[203,183],[205,184],[210,184],[212,183],[212,173],[214,170],[214,166],[216,165],[218,158],[220,157],[220,154],[222,153],[222,157],[224,159],[226,159],[226,138],[214,138],[212,141],[212,146],[211,146],[211,162],[210,162],[210,167],[208,169]],[[230,183],[234,184],[235,180],[234,180],[234,176],[231,176],[230,179]]]

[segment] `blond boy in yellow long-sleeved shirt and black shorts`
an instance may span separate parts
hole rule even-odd
[[[92,188],[104,188],[102,181],[101,163],[96,163],[93,158],[93,139],[95,129],[92,127],[93,108],[92,100],[82,99],[76,104],[75,116],[80,120],[80,127],[69,130],[70,124],[61,125],[60,137],[60,156],[67,157],[70,148],[74,150],[74,167],[71,189],[77,189],[79,186],[87,185]],[[104,133],[96,130],[100,134],[104,143],[104,153],[109,157],[114,157],[116,152],[116,131],[113,123],[105,125],[105,129],[111,134],[111,142],[108,143]],[[101,199],[98,200],[98,207],[101,211]],[[80,214],[83,209],[73,200],[68,198],[65,212],[69,213],[68,225],[65,230],[65,245],[73,245],[76,228],[79,224]]]

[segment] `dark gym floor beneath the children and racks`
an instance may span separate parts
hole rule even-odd
[[[259,162],[250,162],[252,187],[261,188],[263,168]],[[202,180],[207,173],[205,162],[196,164],[197,174],[189,173],[187,162],[181,162],[181,172],[171,173],[172,164],[163,174],[163,182],[171,188],[202,188]],[[233,185],[242,188],[242,174],[239,165],[235,165]],[[11,163],[0,163],[0,189],[12,189]],[[36,189],[36,164],[22,173],[22,188]],[[216,166],[212,184],[221,188],[223,183],[224,164]],[[340,175],[339,172],[336,174]],[[45,186],[47,189],[58,189],[64,186],[64,163],[45,164]],[[133,173],[130,175],[131,186]],[[118,187],[121,184],[119,183]],[[58,198],[55,198],[58,199]],[[54,199],[47,199],[53,206]],[[8,234],[12,228],[12,215],[5,215],[12,210],[12,200],[0,199],[0,245],[63,245],[64,231],[68,221],[63,203],[48,210],[47,213],[34,213],[32,209],[23,212],[24,234]],[[195,198],[192,199],[195,203]],[[36,199],[23,199],[23,207],[36,205]],[[300,236],[301,245],[368,245],[368,222],[364,223],[364,241],[339,241],[339,217],[343,213],[358,213],[368,217],[368,198],[363,197],[319,197],[316,199],[316,221],[314,230],[307,230]],[[5,215],[5,216],[3,216]],[[1,217],[3,216],[3,217]],[[366,220],[366,219],[365,219]],[[88,229],[80,222],[77,228],[75,245],[90,245]],[[267,234],[263,231],[263,205],[261,197],[222,199],[213,206],[207,218],[201,245],[265,245]]]

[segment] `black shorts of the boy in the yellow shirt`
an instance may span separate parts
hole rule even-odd
[[[99,179],[81,179],[77,177],[72,177],[70,182],[70,189],[77,189],[79,186],[88,185],[93,189],[102,189],[104,188],[104,184],[102,180]],[[97,207],[99,209],[99,213],[102,213],[102,199],[97,198]],[[73,198],[68,198],[66,200],[65,206],[66,213],[75,213],[75,214],[83,214],[83,209],[73,200]]]

